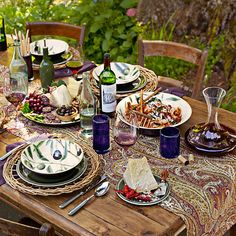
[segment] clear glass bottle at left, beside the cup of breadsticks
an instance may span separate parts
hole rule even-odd
[[[28,69],[25,60],[20,53],[20,42],[14,40],[14,53],[9,66],[11,84],[15,85],[15,89],[28,93]]]

